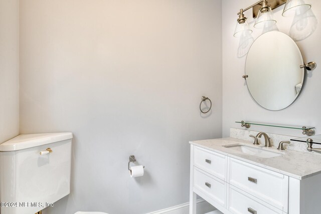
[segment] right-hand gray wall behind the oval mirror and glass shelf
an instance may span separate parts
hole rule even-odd
[[[315,61],[317,68],[305,77],[303,87],[298,99],[288,108],[280,111],[269,111],[258,106],[252,100],[242,78],[246,55],[242,52],[246,49],[246,43],[241,45],[240,40],[233,37],[236,25],[237,12],[257,1],[246,0],[224,0],[222,1],[223,19],[223,136],[229,136],[229,128],[241,128],[235,121],[248,120],[255,122],[268,122],[289,125],[312,125],[321,127],[321,2],[309,0],[312,10],[306,13],[306,19],[296,23],[293,17],[284,18],[281,16],[283,6],[273,10],[277,20],[279,31],[299,39],[299,46],[305,62]],[[250,28],[253,30],[253,39],[262,34],[262,30],[253,28],[252,11],[245,13],[248,17]],[[313,32],[313,30],[315,30]],[[312,33],[313,32],[313,33]],[[308,36],[312,33],[310,36]],[[250,44],[249,44],[250,45]],[[286,57],[286,56],[284,56]],[[273,63],[273,62],[271,62]],[[287,130],[281,128],[264,128],[252,126],[250,129],[258,131],[269,131],[279,134],[302,136],[300,130]],[[316,129],[316,133],[321,131]]]

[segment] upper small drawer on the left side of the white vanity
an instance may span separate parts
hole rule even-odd
[[[194,165],[226,181],[227,158],[225,155],[195,146]]]

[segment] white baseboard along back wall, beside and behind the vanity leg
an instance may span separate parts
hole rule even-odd
[[[172,206],[166,209],[161,209],[153,212],[149,212],[147,214],[188,214],[190,209],[189,202],[179,204],[176,206]],[[210,212],[212,210],[215,210],[215,207],[213,207],[211,204],[209,204],[204,199],[200,198],[197,200],[197,214],[204,214],[207,212]]]

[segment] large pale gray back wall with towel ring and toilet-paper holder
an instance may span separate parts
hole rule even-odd
[[[20,1],[21,133],[74,133],[72,192],[45,213],[141,214],[189,200],[188,141],[222,134],[221,9]],[[129,177],[131,154],[143,177]]]

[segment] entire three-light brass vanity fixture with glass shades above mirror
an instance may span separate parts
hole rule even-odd
[[[237,14],[239,19],[237,19],[234,37],[240,37],[244,32],[252,33],[243,12],[252,8],[253,19],[257,18],[254,28],[269,28],[276,23],[276,20],[273,18],[272,10],[284,4],[283,17],[300,15],[311,8],[311,5],[306,4],[305,0],[261,0],[244,10],[241,9]]]

